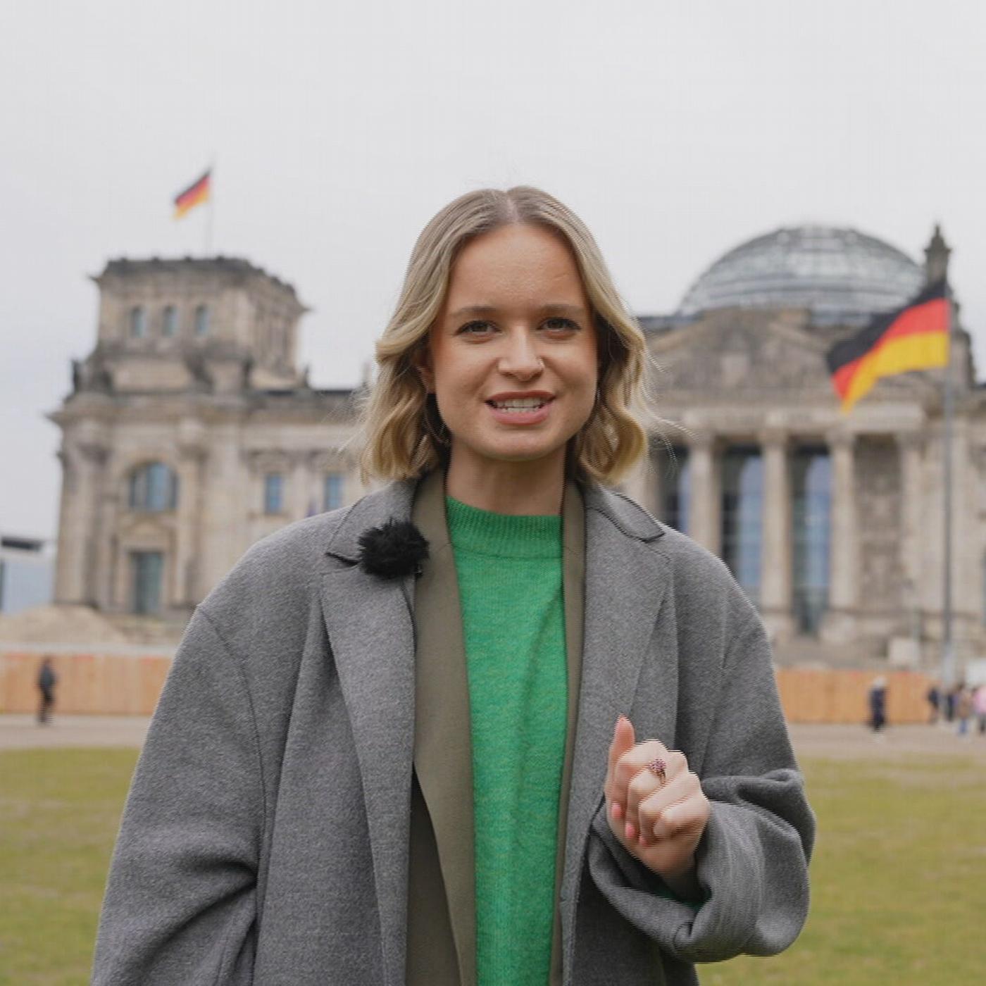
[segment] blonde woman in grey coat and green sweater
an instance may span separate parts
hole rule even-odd
[[[645,347],[589,232],[462,196],[378,360],[390,484],[189,624],[95,982],[676,984],[784,949],[813,819],[763,628],[601,485],[646,447]]]

